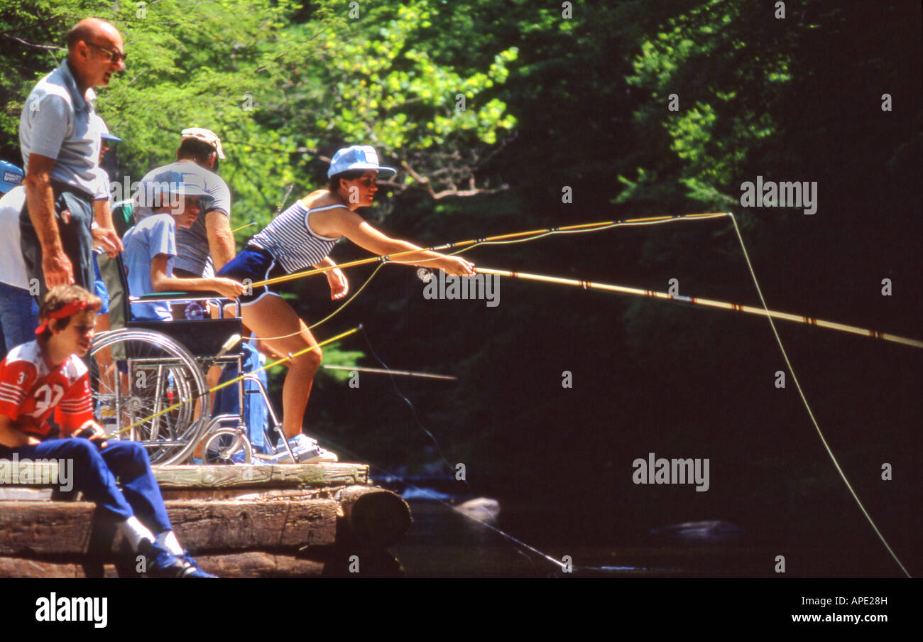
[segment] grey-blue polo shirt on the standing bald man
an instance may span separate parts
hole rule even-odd
[[[54,158],[52,179],[92,196],[102,133],[99,121],[90,117],[95,98],[92,89],[80,94],[67,61],[39,80],[19,117],[19,147],[27,174],[30,154]]]

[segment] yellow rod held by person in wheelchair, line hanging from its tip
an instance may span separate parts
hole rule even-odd
[[[296,272],[291,274],[283,274],[282,276],[277,276],[271,279],[266,279],[264,281],[257,281],[251,284],[252,287],[261,287],[263,285],[273,285],[277,283],[283,283],[285,281],[294,281],[294,279],[300,279],[305,276],[311,276],[313,274],[330,272],[330,270],[335,270],[337,268],[352,268],[356,265],[367,265],[368,263],[374,263],[376,261],[394,261],[396,257],[407,256],[408,254],[417,254],[419,252],[438,252],[442,249],[450,248],[465,248],[468,246],[479,245],[481,243],[491,243],[497,241],[508,241],[511,238],[521,238],[522,236],[536,236],[536,235],[545,235],[545,234],[556,234],[561,232],[576,232],[576,231],[592,231],[593,229],[600,229],[605,227],[615,227],[617,225],[640,225],[640,224],[653,224],[653,223],[665,223],[666,221],[679,221],[684,219],[707,219],[707,218],[719,218],[721,216],[730,216],[730,212],[702,212],[698,214],[666,214],[664,216],[647,216],[644,218],[635,218],[635,219],[626,219],[624,221],[604,221],[602,223],[583,223],[577,225],[561,225],[559,227],[542,227],[535,230],[529,230],[527,232],[512,232],[510,234],[501,234],[497,236],[485,236],[483,238],[470,238],[465,241],[455,241],[454,243],[444,243],[442,245],[431,246],[429,248],[418,248],[418,249],[408,249],[403,252],[397,252],[396,254],[387,254],[383,256],[374,256],[367,257],[366,259],[357,259],[350,260],[339,265],[325,265],[322,268],[312,268],[310,270],[304,270],[302,272]],[[426,262],[428,260],[435,259],[426,259],[417,262]]]

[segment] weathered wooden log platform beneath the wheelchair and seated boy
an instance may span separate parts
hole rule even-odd
[[[120,575],[127,545],[111,517],[62,501],[53,463],[28,466],[0,462],[0,577]],[[372,486],[364,464],[153,470],[177,538],[220,576],[330,574],[325,560],[342,555],[329,551],[378,551],[411,524],[407,504]]]

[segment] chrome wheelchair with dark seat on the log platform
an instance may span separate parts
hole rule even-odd
[[[118,260],[123,293],[128,292]],[[90,346],[90,388],[96,420],[111,439],[141,442],[151,464],[180,464],[193,454],[206,464],[250,463],[253,446],[244,419],[245,394],[258,394],[266,404],[270,427],[283,436],[265,386],[255,374],[235,383],[239,413],[210,417],[211,391],[206,372],[236,366],[242,372],[240,305],[234,318],[224,305],[234,303],[216,293],[162,293],[122,297],[122,310],[131,320],[132,303],[217,302],[219,319],[186,321],[126,321],[125,327],[99,333]],[[236,336],[236,339],[234,337]],[[245,391],[254,382],[256,392]],[[222,386],[223,387],[223,386]],[[270,452],[270,430],[263,430]],[[293,456],[286,440],[282,443]]]

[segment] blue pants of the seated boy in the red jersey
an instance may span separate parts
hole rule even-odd
[[[173,530],[161,489],[150,472],[148,453],[138,442],[109,442],[102,450],[87,439],[51,439],[32,446],[0,446],[0,458],[68,459],[73,462],[74,488],[90,502],[126,520],[137,515],[155,535]],[[121,490],[115,478],[122,482]]]

